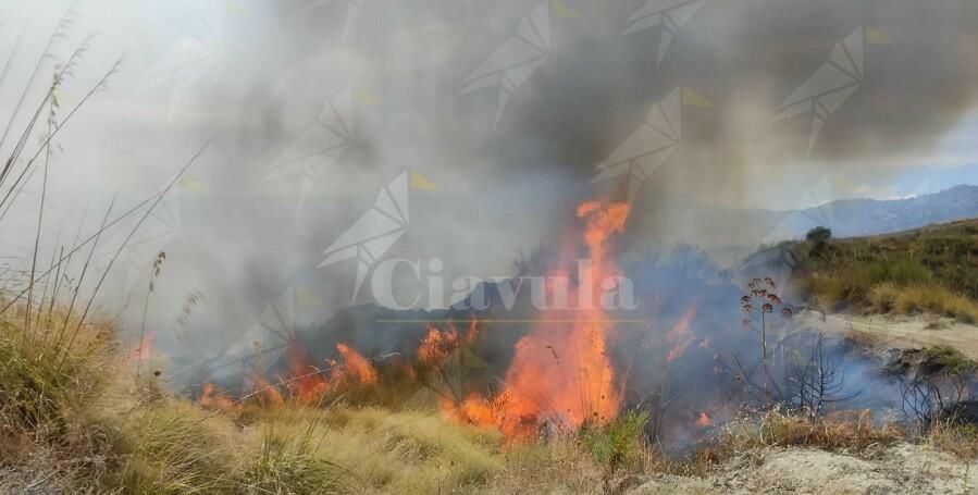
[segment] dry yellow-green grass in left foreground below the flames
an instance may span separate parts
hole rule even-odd
[[[28,475],[35,471],[55,474],[42,480],[45,488],[134,494],[601,486],[602,467],[577,441],[504,450],[497,432],[451,423],[433,410],[285,405],[206,411],[166,392],[157,378],[137,381],[104,325],[83,325],[64,366],[41,359],[57,346],[37,344],[46,331],[25,335],[16,323],[22,315],[0,320],[0,389],[14,398],[0,409],[7,468],[0,486],[11,491],[37,482]]]

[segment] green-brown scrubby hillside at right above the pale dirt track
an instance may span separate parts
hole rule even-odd
[[[847,239],[819,228],[787,248],[796,285],[822,309],[978,322],[978,220]]]

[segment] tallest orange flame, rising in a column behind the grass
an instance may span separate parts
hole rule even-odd
[[[579,273],[578,285],[568,287],[567,296],[590,304],[572,311],[543,311],[540,323],[517,343],[503,391],[492,400],[469,396],[461,404],[443,404],[446,412],[466,422],[497,426],[509,438],[542,426],[602,424],[617,414],[621,397],[606,355],[612,324],[597,295],[602,282],[620,274],[606,255],[606,244],[622,232],[628,212],[624,203],[587,201],[578,207],[578,218],[586,223],[583,240],[591,253],[591,273]],[[554,275],[568,275],[569,264],[562,263]],[[548,300],[556,296],[550,282],[555,280],[559,277],[547,277]]]

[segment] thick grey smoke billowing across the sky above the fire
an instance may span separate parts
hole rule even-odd
[[[210,141],[102,298],[137,323],[165,250],[149,320],[172,345],[170,329],[187,326],[198,351],[282,297],[302,308],[283,317],[294,324],[349,306],[357,260],[317,265],[405,172],[410,223],[382,256],[441,259],[448,280],[511,274],[521,252],[562,240],[579,201],[626,199],[628,174],[591,182],[629,143],[627,159],[670,154],[635,189],[628,253],[750,248],[768,224],[717,206],[792,208],[831,173],[879,185],[941,152],[978,85],[968,1],[227,0],[117,14],[141,27],[120,27],[109,3],[83,5],[73,28],[112,46],[95,39],[72,90],[127,61],[64,129],[62,243],[83,205],[90,231],[116,187],[132,205]],[[629,141],[656,106],[672,136]],[[193,290],[206,299],[177,323]]]

